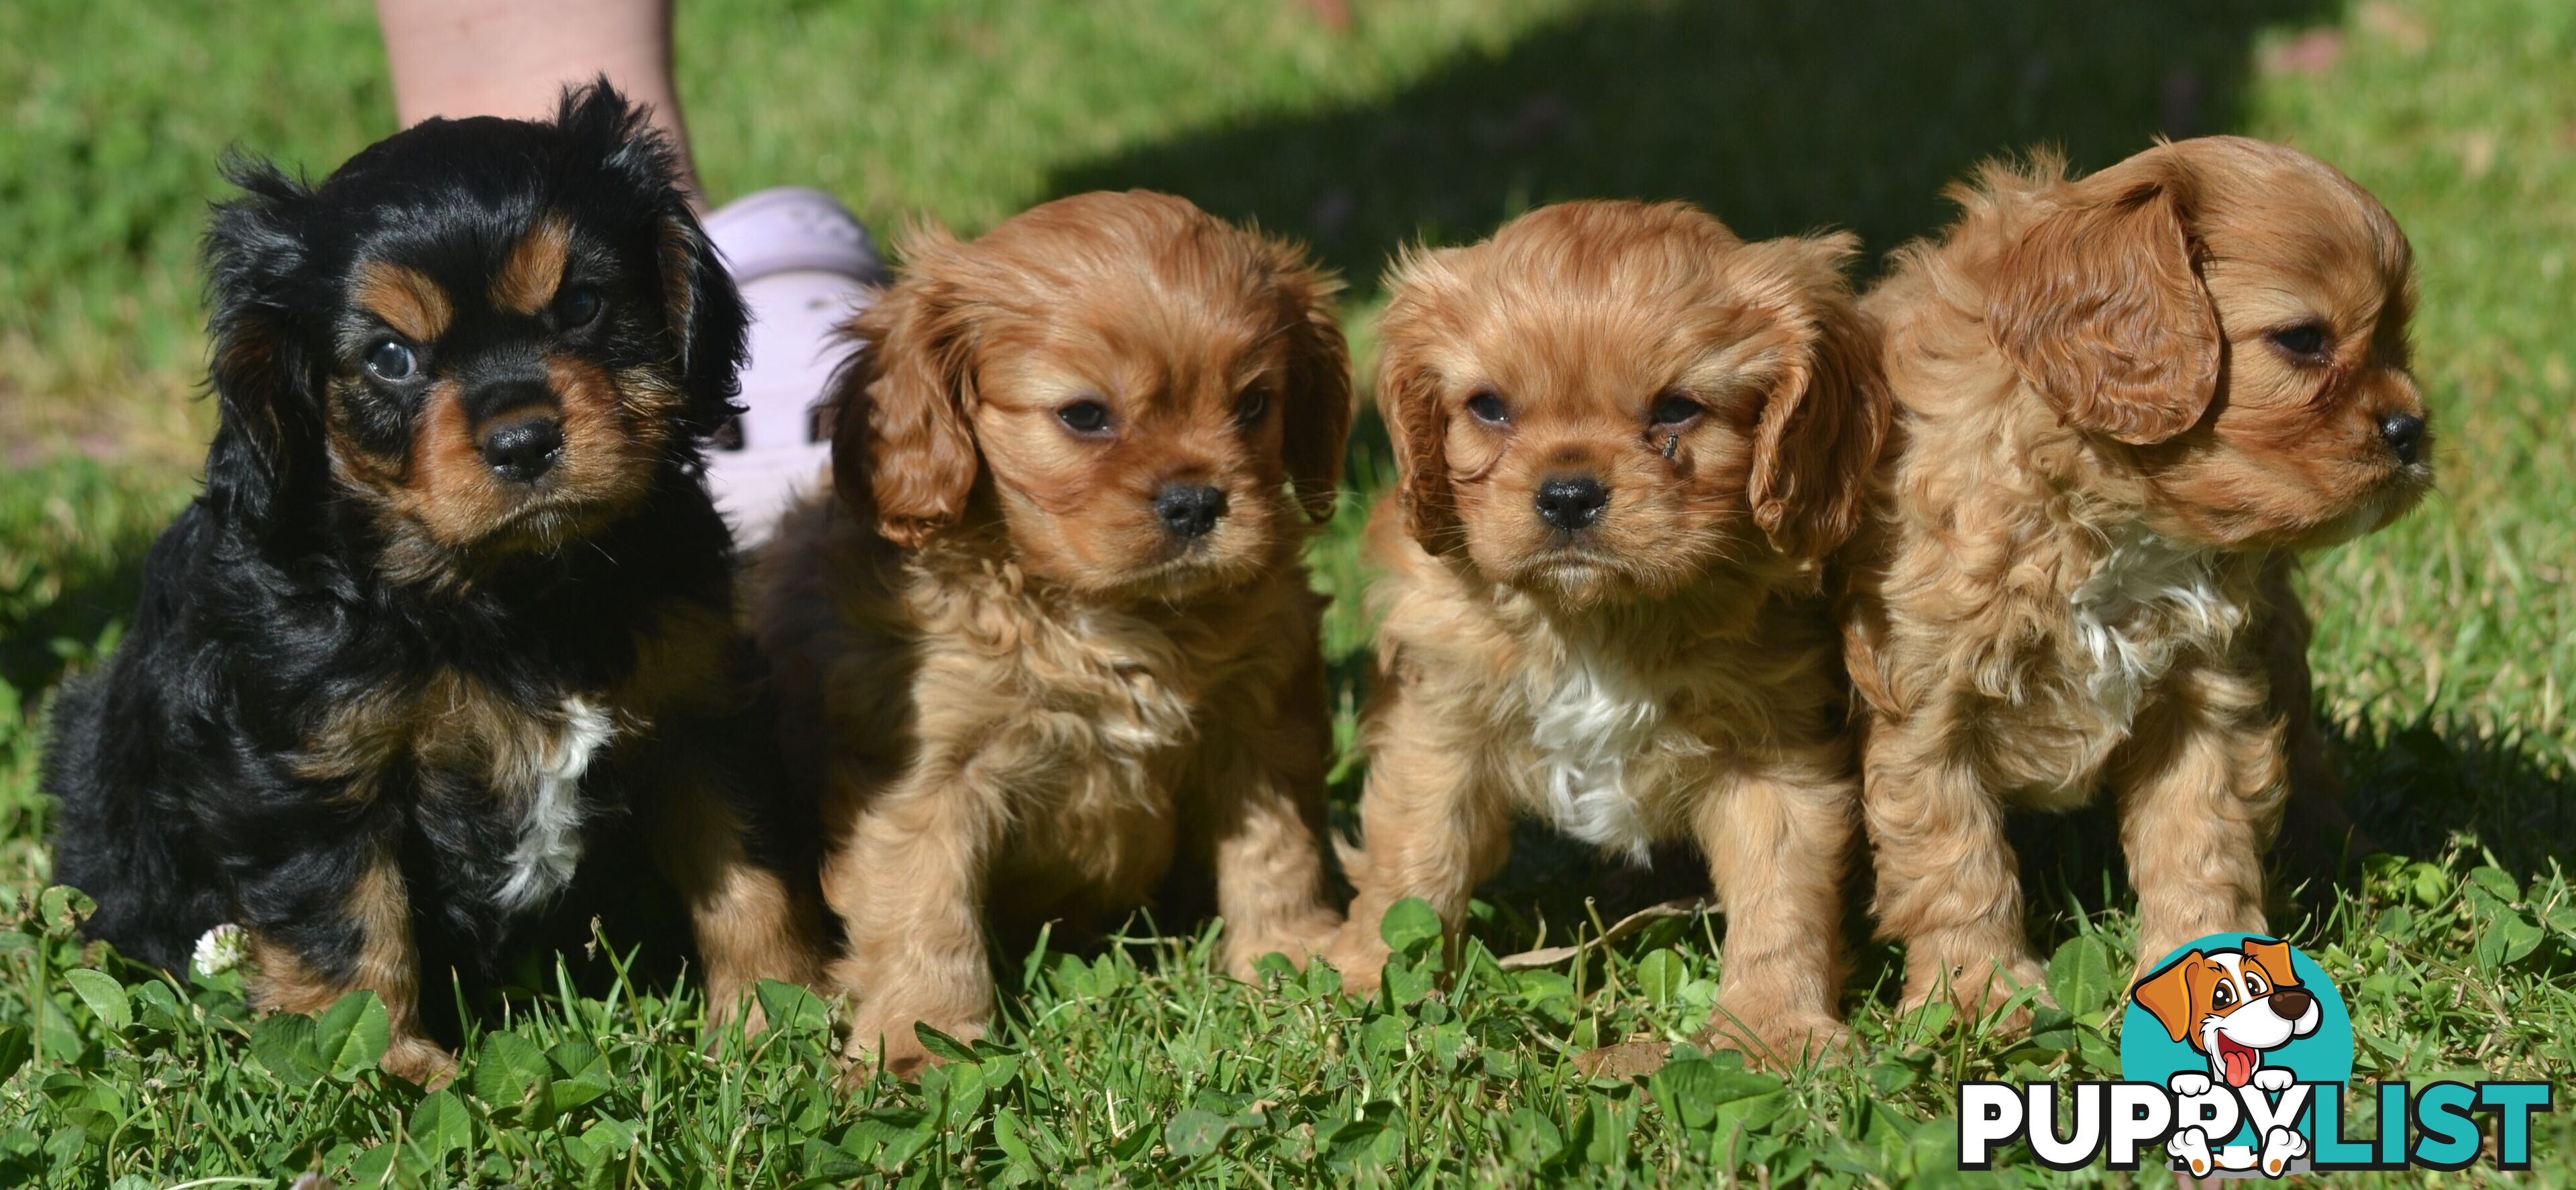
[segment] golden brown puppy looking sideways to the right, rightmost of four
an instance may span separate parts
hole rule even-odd
[[[1878,920],[1906,1002],[2040,979],[2007,806],[2110,788],[2138,961],[2264,930],[2262,853],[2316,762],[2295,551],[2432,482],[2388,211],[2251,139],[2084,180],[1989,165],[1865,309],[1899,402],[1855,538]]]

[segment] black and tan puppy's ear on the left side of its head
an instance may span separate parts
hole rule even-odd
[[[224,180],[245,193],[219,203],[206,227],[209,384],[219,417],[206,451],[206,500],[268,528],[286,492],[322,482],[325,471],[322,399],[294,327],[312,191],[247,157],[224,160]]]

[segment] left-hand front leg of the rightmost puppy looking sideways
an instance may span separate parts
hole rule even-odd
[[[1984,1012],[2038,987],[2004,804],[1942,732],[1878,721],[1862,760],[1862,819],[1878,863],[1878,930],[1906,943],[1904,1005],[1947,994]]]

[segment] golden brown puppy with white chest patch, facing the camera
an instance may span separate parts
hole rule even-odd
[[[1365,855],[1329,950],[1352,984],[1378,981],[1388,904],[1455,930],[1528,809],[1607,853],[1700,845],[1721,1035],[1795,1059],[1839,1030],[1857,775],[1816,585],[1888,420],[1852,247],[1564,203],[1396,268],[1401,489],[1370,523]]]

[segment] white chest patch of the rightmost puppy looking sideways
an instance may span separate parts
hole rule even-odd
[[[2244,623],[2244,608],[2218,590],[2208,549],[2146,531],[2112,543],[2069,595],[2069,610],[2087,659],[2084,688],[2123,732],[2184,649],[2223,641]]]

